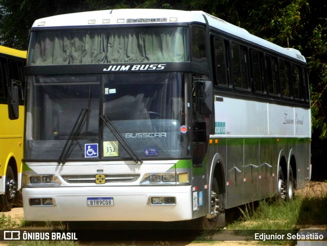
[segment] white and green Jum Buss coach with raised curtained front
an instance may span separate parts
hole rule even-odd
[[[25,75],[26,220],[213,229],[310,180],[306,59],[204,12],[38,19]]]

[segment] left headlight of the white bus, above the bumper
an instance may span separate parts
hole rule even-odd
[[[61,183],[56,175],[22,175],[23,187],[59,186],[60,184]]]

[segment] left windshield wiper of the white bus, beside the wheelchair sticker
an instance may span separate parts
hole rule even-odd
[[[61,151],[61,154],[58,159],[58,165],[65,164],[69,150],[71,149],[73,142],[76,140],[76,137],[78,136],[78,134],[82,128],[83,122],[87,115],[88,115],[88,109],[82,108],[79,116],[76,119],[74,127],[73,127],[71,133],[69,134],[69,137],[65,143],[65,146],[63,147],[63,149]]]

